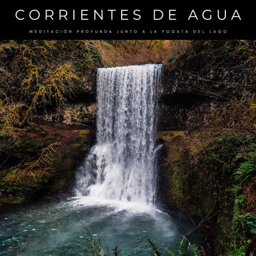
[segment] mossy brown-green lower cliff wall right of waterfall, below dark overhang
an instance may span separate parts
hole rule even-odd
[[[231,129],[203,129],[191,133],[158,131],[156,136],[166,143],[163,164],[168,183],[166,198],[171,207],[197,220],[203,220],[214,209],[217,214],[207,225],[214,228],[225,249],[237,250],[242,242],[246,244],[242,238],[246,224],[236,217],[245,212],[240,208],[234,214],[235,197],[230,188],[238,181],[232,174],[242,175],[237,195],[243,193],[243,202],[255,199],[254,188],[250,184],[244,187],[246,175],[254,178],[255,162],[250,152],[255,148],[255,135]],[[249,210],[250,205],[245,204],[244,209]]]

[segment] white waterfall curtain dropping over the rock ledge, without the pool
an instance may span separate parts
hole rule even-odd
[[[154,204],[161,64],[97,70],[97,143],[76,174],[76,195]]]

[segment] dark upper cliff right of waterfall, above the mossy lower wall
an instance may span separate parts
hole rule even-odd
[[[191,129],[218,121],[226,127],[233,122],[253,127],[252,113],[246,117],[237,112],[253,112],[255,64],[250,55],[223,42],[197,44],[192,53],[164,65],[159,129]]]

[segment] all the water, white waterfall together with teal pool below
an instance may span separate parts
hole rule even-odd
[[[146,238],[179,250],[195,226],[156,207],[161,73],[156,64],[98,69],[97,143],[76,172],[75,196],[2,210],[3,255],[90,255],[84,226],[110,253],[118,245],[122,255],[152,255]]]

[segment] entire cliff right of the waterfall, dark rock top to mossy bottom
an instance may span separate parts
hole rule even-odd
[[[254,175],[243,180],[238,170],[250,161],[256,167],[255,63],[239,47],[200,47],[164,68],[159,199],[170,212],[211,226],[232,254],[249,250],[254,239],[243,218],[254,212]]]

